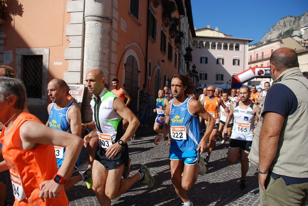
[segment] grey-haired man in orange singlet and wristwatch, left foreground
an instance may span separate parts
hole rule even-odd
[[[0,77],[0,122],[4,123],[0,135],[4,161],[0,172],[10,170],[14,205],[68,205],[64,184],[83,141],[76,135],[49,128],[24,112],[25,102],[23,83]],[[66,147],[59,170],[53,145]]]

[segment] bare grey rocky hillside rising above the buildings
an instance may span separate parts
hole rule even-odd
[[[261,44],[275,38],[292,35],[293,31],[308,26],[308,12],[301,16],[286,16],[281,18],[256,44]]]

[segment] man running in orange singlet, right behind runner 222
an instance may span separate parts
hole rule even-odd
[[[220,106],[222,106],[225,110],[226,113],[229,113],[228,107],[223,103],[223,101],[215,97],[215,87],[214,86],[209,86],[207,87],[207,97],[202,101],[202,104],[204,105],[205,110],[215,119],[215,126],[213,131],[209,131],[210,136],[209,136],[209,145],[208,145],[208,150],[207,150],[207,155],[205,156],[205,162],[208,163],[209,161],[209,156],[211,152],[213,151],[214,147],[216,146],[216,133],[219,129],[219,109]],[[205,122],[207,124],[207,122]],[[206,127],[206,130],[208,128]]]

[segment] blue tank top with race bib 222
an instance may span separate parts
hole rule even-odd
[[[172,99],[170,108],[170,133],[172,151],[191,151],[200,143],[199,116],[191,115],[188,109],[188,97],[182,104],[174,105]]]

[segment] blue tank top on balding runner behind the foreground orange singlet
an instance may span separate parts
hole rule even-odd
[[[67,113],[68,110],[74,105],[74,103],[70,102],[65,108],[62,109],[56,109],[54,108],[54,105],[55,103],[52,104],[51,109],[49,111],[49,127],[72,133],[70,129],[70,123],[67,119]],[[60,168],[63,163],[63,159],[65,157],[65,147],[62,148],[55,146],[54,148],[55,148],[55,155],[57,157],[56,158],[57,167]]]

